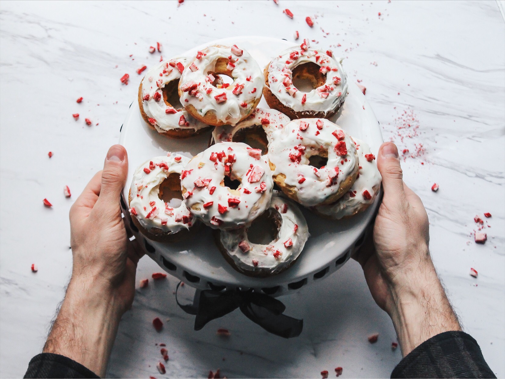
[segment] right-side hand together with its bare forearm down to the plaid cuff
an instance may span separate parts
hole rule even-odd
[[[393,320],[404,355],[430,337],[461,330],[429,253],[428,215],[402,179],[398,150],[382,144],[377,155],[384,196],[372,238],[354,258],[363,267],[375,302]]]

